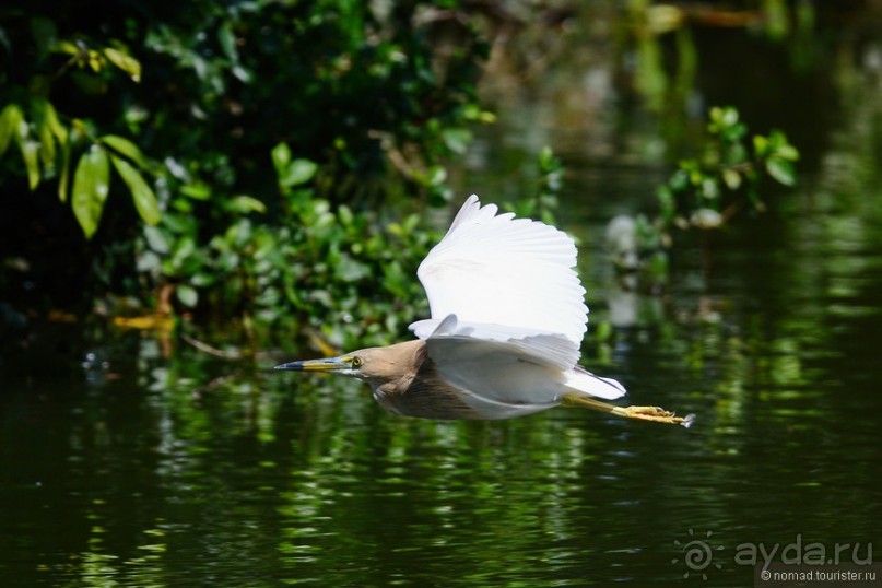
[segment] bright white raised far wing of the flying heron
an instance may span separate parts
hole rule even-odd
[[[455,314],[463,324],[557,333],[578,349],[588,308],[573,270],[573,239],[544,223],[496,213],[494,204],[470,197],[420,264],[432,319]]]

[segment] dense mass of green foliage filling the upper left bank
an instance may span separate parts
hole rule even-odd
[[[481,34],[437,50],[423,1],[154,8],[0,12],[0,185],[98,242],[72,244],[95,291],[251,334],[400,331],[413,308],[377,301],[422,299],[427,236],[369,211],[450,198],[446,160],[492,120]]]

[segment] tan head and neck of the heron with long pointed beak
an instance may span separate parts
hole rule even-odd
[[[277,365],[275,369],[340,374],[378,386],[415,375],[425,358],[424,349],[422,341],[408,341],[388,348],[360,349],[337,357],[291,362]]]

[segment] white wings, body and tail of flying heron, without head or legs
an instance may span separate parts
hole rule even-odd
[[[577,366],[588,321],[576,246],[544,223],[470,197],[420,264],[432,318],[411,325],[437,375],[481,419],[619,398],[615,380]]]

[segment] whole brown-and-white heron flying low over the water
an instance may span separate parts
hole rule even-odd
[[[384,409],[407,416],[510,419],[563,403],[689,425],[661,409],[596,400],[625,389],[577,364],[588,308],[573,239],[496,212],[469,198],[420,264],[431,318],[411,325],[419,339],[277,368],[357,377]]]

